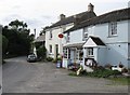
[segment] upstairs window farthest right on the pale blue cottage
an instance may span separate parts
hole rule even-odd
[[[109,36],[117,36],[117,22],[112,22],[108,25]]]

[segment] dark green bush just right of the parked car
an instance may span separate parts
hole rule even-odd
[[[37,55],[38,55],[39,58],[46,59],[47,49],[44,46],[40,46],[37,50]]]

